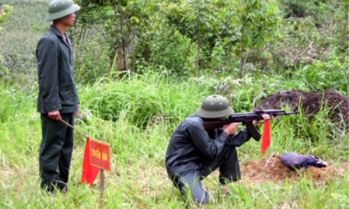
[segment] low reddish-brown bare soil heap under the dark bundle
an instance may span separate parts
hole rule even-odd
[[[304,172],[306,178],[315,181],[327,181],[336,178],[343,178],[349,167],[348,163],[341,164],[341,168],[332,167],[327,163],[325,168],[309,167],[308,169],[300,169],[298,171],[289,169],[281,160],[279,155],[272,153],[267,157],[258,161],[247,161],[242,169],[242,181],[265,182],[267,180],[278,183],[288,180],[297,180],[303,178]],[[303,171],[302,171],[303,170]]]

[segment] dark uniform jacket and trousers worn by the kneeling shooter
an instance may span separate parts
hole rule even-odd
[[[241,178],[236,147],[251,139],[246,129],[228,135],[223,128],[206,131],[203,122],[195,114],[188,116],[174,130],[165,156],[169,178],[184,196],[190,189],[197,203],[208,203],[201,180],[214,170],[219,168],[221,184]]]

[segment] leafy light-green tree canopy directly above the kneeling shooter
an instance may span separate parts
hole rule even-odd
[[[168,3],[164,10],[170,24],[196,43],[197,74],[200,50],[203,59],[209,60],[221,40],[226,49],[239,54],[241,74],[249,52],[263,52],[265,42],[278,35],[277,27],[281,22],[275,0],[194,0]]]

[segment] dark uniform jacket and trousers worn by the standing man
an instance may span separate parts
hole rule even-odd
[[[47,116],[59,110],[61,118],[74,124],[74,113],[79,99],[73,74],[73,49],[66,36],[51,26],[36,47],[38,60],[38,111],[41,113],[43,139],[40,144],[39,164],[41,186],[49,190],[54,185],[65,187],[68,182],[73,152],[73,129]]]

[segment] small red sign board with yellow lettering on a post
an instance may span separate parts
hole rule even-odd
[[[90,139],[91,165],[110,171],[110,144],[96,139]]]

